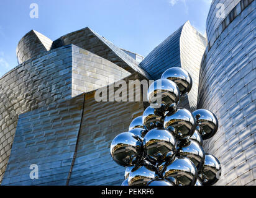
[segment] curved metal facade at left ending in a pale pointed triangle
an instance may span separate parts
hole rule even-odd
[[[28,35],[36,38],[34,31]],[[33,54],[33,58],[22,62],[2,76],[0,181],[11,153],[19,114],[69,100],[128,75],[129,72],[111,61],[78,46],[66,45],[50,51],[41,51],[37,56]]]

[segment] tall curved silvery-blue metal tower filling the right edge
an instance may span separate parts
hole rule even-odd
[[[216,29],[211,12],[217,2],[210,9],[208,32]],[[219,35],[208,43],[199,76],[198,108],[213,111],[219,120],[217,134],[206,141],[204,149],[221,161],[217,185],[255,185],[256,2],[225,4],[236,6],[228,9],[222,24],[215,19]]]

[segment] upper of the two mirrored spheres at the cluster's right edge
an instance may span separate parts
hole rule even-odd
[[[214,136],[219,126],[216,116],[208,110],[196,110],[193,113],[194,118],[198,120],[199,133],[203,140]]]

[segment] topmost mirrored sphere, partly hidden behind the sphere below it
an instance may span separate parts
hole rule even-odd
[[[178,85],[181,95],[190,92],[192,88],[192,78],[190,74],[181,67],[171,67],[163,72],[161,79],[168,79]]]

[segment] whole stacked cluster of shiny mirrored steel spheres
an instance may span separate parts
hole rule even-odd
[[[129,132],[111,143],[112,158],[127,167],[122,186],[202,186],[218,181],[221,164],[202,147],[203,140],[216,134],[216,116],[177,107],[191,87],[190,74],[180,67],[171,67],[150,85],[150,106],[130,123]]]

